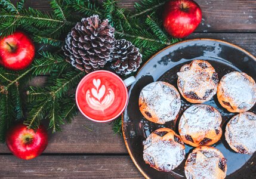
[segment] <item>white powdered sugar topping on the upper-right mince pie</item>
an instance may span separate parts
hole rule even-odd
[[[256,101],[256,85],[246,78],[245,73],[231,72],[225,75],[220,82],[223,95],[230,98],[233,108],[249,110]]]

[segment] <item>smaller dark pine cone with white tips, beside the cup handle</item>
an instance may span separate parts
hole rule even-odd
[[[137,71],[142,62],[140,50],[125,39],[115,42],[111,57],[111,61],[113,61],[111,68],[121,75],[129,75],[131,72]]]

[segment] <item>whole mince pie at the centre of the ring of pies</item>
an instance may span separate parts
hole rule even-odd
[[[195,104],[180,118],[178,131],[184,143],[193,147],[211,146],[221,138],[221,115],[206,104]]]

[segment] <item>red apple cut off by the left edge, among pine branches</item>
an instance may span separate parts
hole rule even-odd
[[[23,32],[14,32],[5,38],[0,37],[0,64],[10,70],[22,70],[29,66],[35,57],[35,47]]]

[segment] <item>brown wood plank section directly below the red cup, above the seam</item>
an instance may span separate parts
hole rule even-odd
[[[62,132],[48,130],[48,135],[44,153],[127,153],[122,137],[113,134],[112,124],[92,122],[81,113],[72,124],[62,125]],[[10,153],[5,144],[0,144],[0,153]]]

